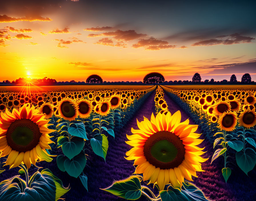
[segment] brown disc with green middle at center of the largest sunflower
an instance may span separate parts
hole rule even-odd
[[[151,135],[145,142],[143,151],[147,161],[161,169],[175,168],[185,157],[182,140],[168,131],[159,131]]]

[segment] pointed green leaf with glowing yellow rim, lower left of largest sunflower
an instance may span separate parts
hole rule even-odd
[[[140,182],[140,179],[133,175],[125,180],[116,181],[108,188],[101,190],[105,190],[127,200],[137,200],[141,197]]]

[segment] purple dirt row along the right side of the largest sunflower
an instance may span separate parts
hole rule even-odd
[[[165,100],[168,105],[168,109],[173,114],[177,110],[181,111],[181,121],[189,118],[189,114],[180,108],[168,95],[165,91]],[[191,119],[189,124],[195,124]],[[204,139],[205,133],[203,130],[200,130],[200,125],[198,127],[197,133],[202,133],[201,139]],[[214,134],[214,133],[212,133]],[[232,169],[231,176],[227,183],[222,176],[221,169],[223,168],[224,160],[223,157],[216,159],[212,164],[211,157],[213,155],[213,143],[207,142],[204,140],[200,147],[205,147],[204,151],[207,151],[204,155],[204,158],[209,158],[206,162],[202,163],[202,169],[205,172],[197,172],[198,178],[193,178],[193,183],[200,188],[205,196],[210,200],[216,201],[242,201],[242,200],[251,200],[253,195],[256,195],[255,187],[255,170],[251,171],[250,177],[246,176],[240,169],[236,166],[234,170]],[[216,148],[215,148],[216,149]],[[235,163],[235,161],[234,161]],[[253,194],[253,195],[252,195]]]

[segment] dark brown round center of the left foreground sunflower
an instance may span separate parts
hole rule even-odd
[[[26,152],[39,143],[41,133],[36,123],[30,119],[18,119],[11,123],[6,138],[9,146],[16,151]]]

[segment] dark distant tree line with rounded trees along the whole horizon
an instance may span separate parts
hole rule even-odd
[[[0,82],[3,85],[25,85],[26,83],[32,83],[32,85],[85,85],[85,84],[102,84],[102,85],[141,85],[141,84],[165,84],[165,85],[238,85],[238,84],[256,84],[254,81],[251,81],[251,75],[249,73],[245,73],[241,81],[237,81],[236,76],[233,74],[230,77],[230,80],[222,80],[222,81],[214,81],[214,79],[201,81],[201,76],[199,73],[195,73],[192,77],[192,81],[188,80],[175,80],[175,81],[165,81],[165,78],[161,73],[153,72],[145,75],[143,82],[129,82],[129,81],[121,81],[121,82],[107,82],[104,81],[99,75],[90,75],[86,81],[76,82],[74,80],[71,81],[62,81],[57,82],[55,79],[50,79],[44,77],[43,79],[28,79],[28,78],[19,78],[15,81],[10,82],[9,80],[4,80]]]

